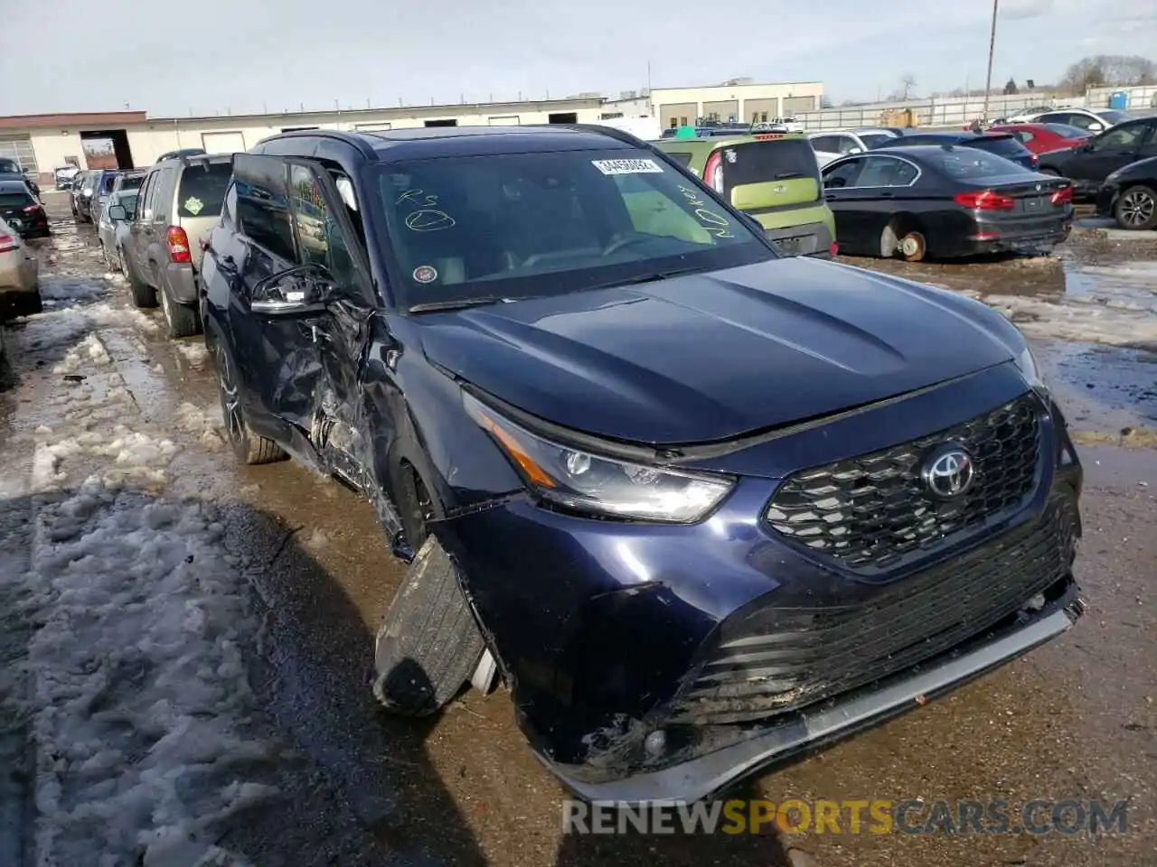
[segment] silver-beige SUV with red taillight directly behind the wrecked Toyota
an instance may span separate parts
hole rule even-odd
[[[197,273],[200,240],[221,214],[233,156],[216,154],[165,160],[149,169],[121,245],[133,303],[155,307],[160,301],[169,335],[200,332]],[[124,212],[110,216],[124,220]]]

